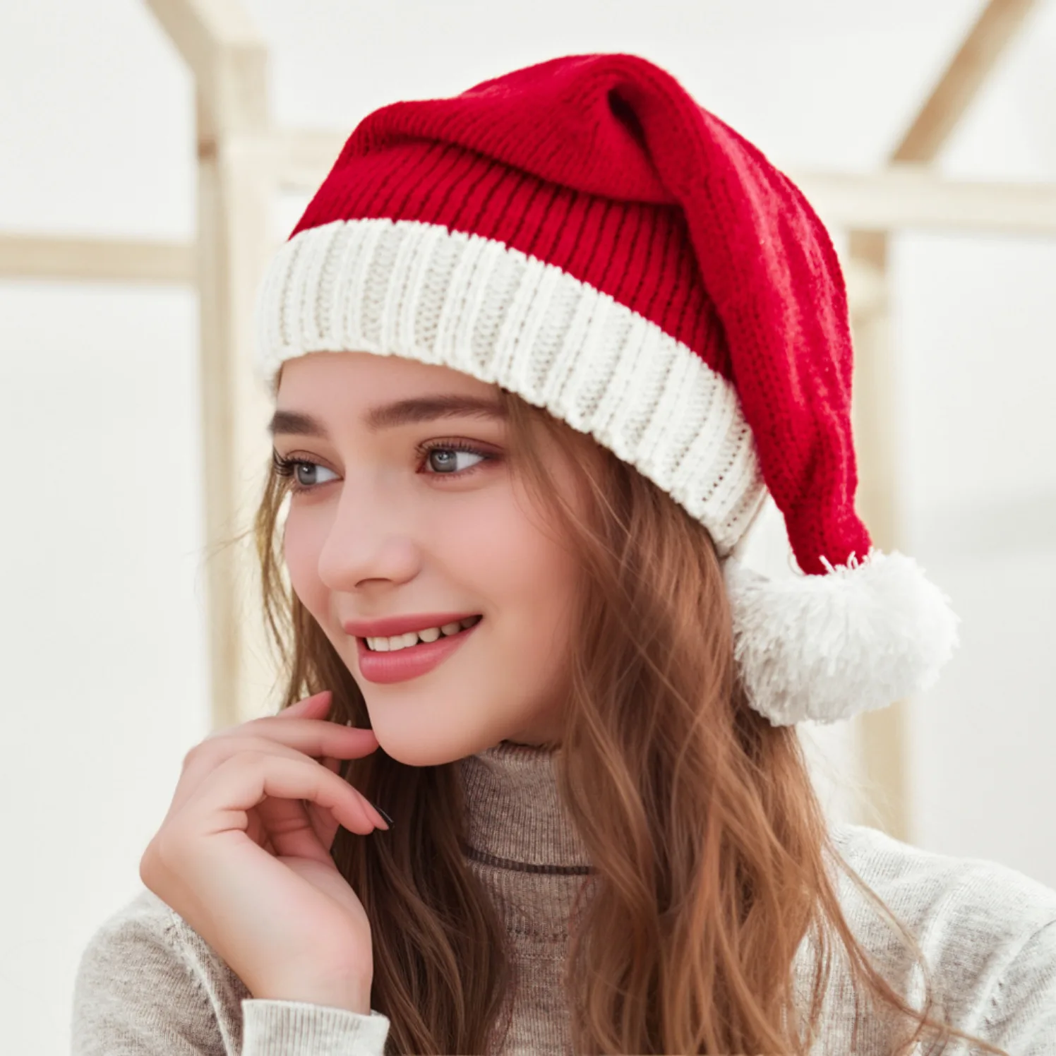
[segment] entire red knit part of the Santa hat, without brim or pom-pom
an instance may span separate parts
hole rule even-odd
[[[684,342],[733,382],[800,568],[868,551],[832,243],[788,177],[671,74],[568,56],[377,110],[293,234],[371,218],[503,242]]]

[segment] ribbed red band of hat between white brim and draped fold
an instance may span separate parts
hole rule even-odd
[[[422,140],[335,167],[291,238],[337,219],[417,220],[502,242],[609,295],[730,377],[677,206],[614,201]]]

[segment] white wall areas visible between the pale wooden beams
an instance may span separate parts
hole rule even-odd
[[[288,126],[352,130],[559,54],[630,51],[792,168],[879,164],[980,0],[246,0]],[[1056,0],[942,159],[1056,181]],[[0,0],[0,230],[189,239],[192,84],[137,0]],[[295,216],[277,207],[277,224]],[[288,215],[287,215],[288,214]],[[277,231],[278,233],[278,231]],[[906,233],[908,549],[963,646],[911,712],[920,846],[1056,886],[1056,243]],[[76,962],[139,887],[208,730],[195,303],[0,282],[2,1046],[68,1051]],[[822,756],[853,777],[844,728]],[[834,815],[846,794],[819,784]]]

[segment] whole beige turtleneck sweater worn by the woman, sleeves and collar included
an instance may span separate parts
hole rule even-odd
[[[566,922],[587,857],[558,797],[552,756],[503,743],[464,759],[468,856],[506,924],[518,983],[504,1053],[568,1051],[561,993]],[[396,819],[399,824],[399,818]],[[996,863],[928,853],[862,826],[836,846],[913,934],[947,994],[948,1020],[1010,1056],[1056,1056],[1056,891]],[[919,1005],[888,928],[841,874],[852,929]],[[796,982],[806,998],[812,951]],[[817,1056],[850,1051],[851,1002],[836,970]],[[73,995],[74,1056],[380,1056],[389,1021],[257,1000],[183,919],[144,889],[92,937]],[[880,1022],[862,1056],[889,1052]],[[965,1050],[953,1046],[950,1056]]]

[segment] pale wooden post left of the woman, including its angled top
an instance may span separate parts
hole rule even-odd
[[[240,0],[147,0],[197,88],[197,277],[213,728],[264,713],[274,670],[251,513],[267,469],[253,321],[276,190],[267,49]]]

